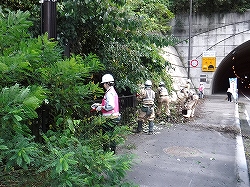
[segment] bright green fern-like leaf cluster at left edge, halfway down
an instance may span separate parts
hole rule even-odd
[[[37,117],[35,110],[41,105],[43,98],[44,93],[40,87],[32,91],[29,87],[21,88],[18,84],[3,88],[0,93],[0,135],[26,131],[28,121]]]

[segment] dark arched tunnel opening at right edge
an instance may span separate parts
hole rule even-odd
[[[250,40],[232,50],[217,67],[212,94],[225,94],[229,78],[237,78],[239,91],[250,90]]]

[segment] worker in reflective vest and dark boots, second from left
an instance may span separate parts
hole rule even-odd
[[[142,88],[137,95],[137,99],[141,101],[141,108],[138,114],[138,126],[137,133],[142,131],[142,125],[144,122],[148,122],[148,134],[153,134],[154,128],[154,100],[155,100],[155,92],[152,90],[152,82],[151,80],[147,80],[144,83],[144,88]]]

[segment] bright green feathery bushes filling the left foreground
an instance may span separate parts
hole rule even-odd
[[[48,36],[31,38],[28,12],[0,14],[0,186],[128,186],[132,156],[104,152],[127,132],[89,114],[103,94],[94,54],[62,57]],[[44,116],[44,114],[47,114]]]

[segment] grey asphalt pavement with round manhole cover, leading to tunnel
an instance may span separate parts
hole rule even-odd
[[[226,95],[209,96],[193,120],[131,135],[126,144],[135,148],[120,150],[136,156],[127,179],[140,187],[249,186],[244,167],[243,177],[238,172],[237,160],[245,158],[237,152],[235,105]]]

